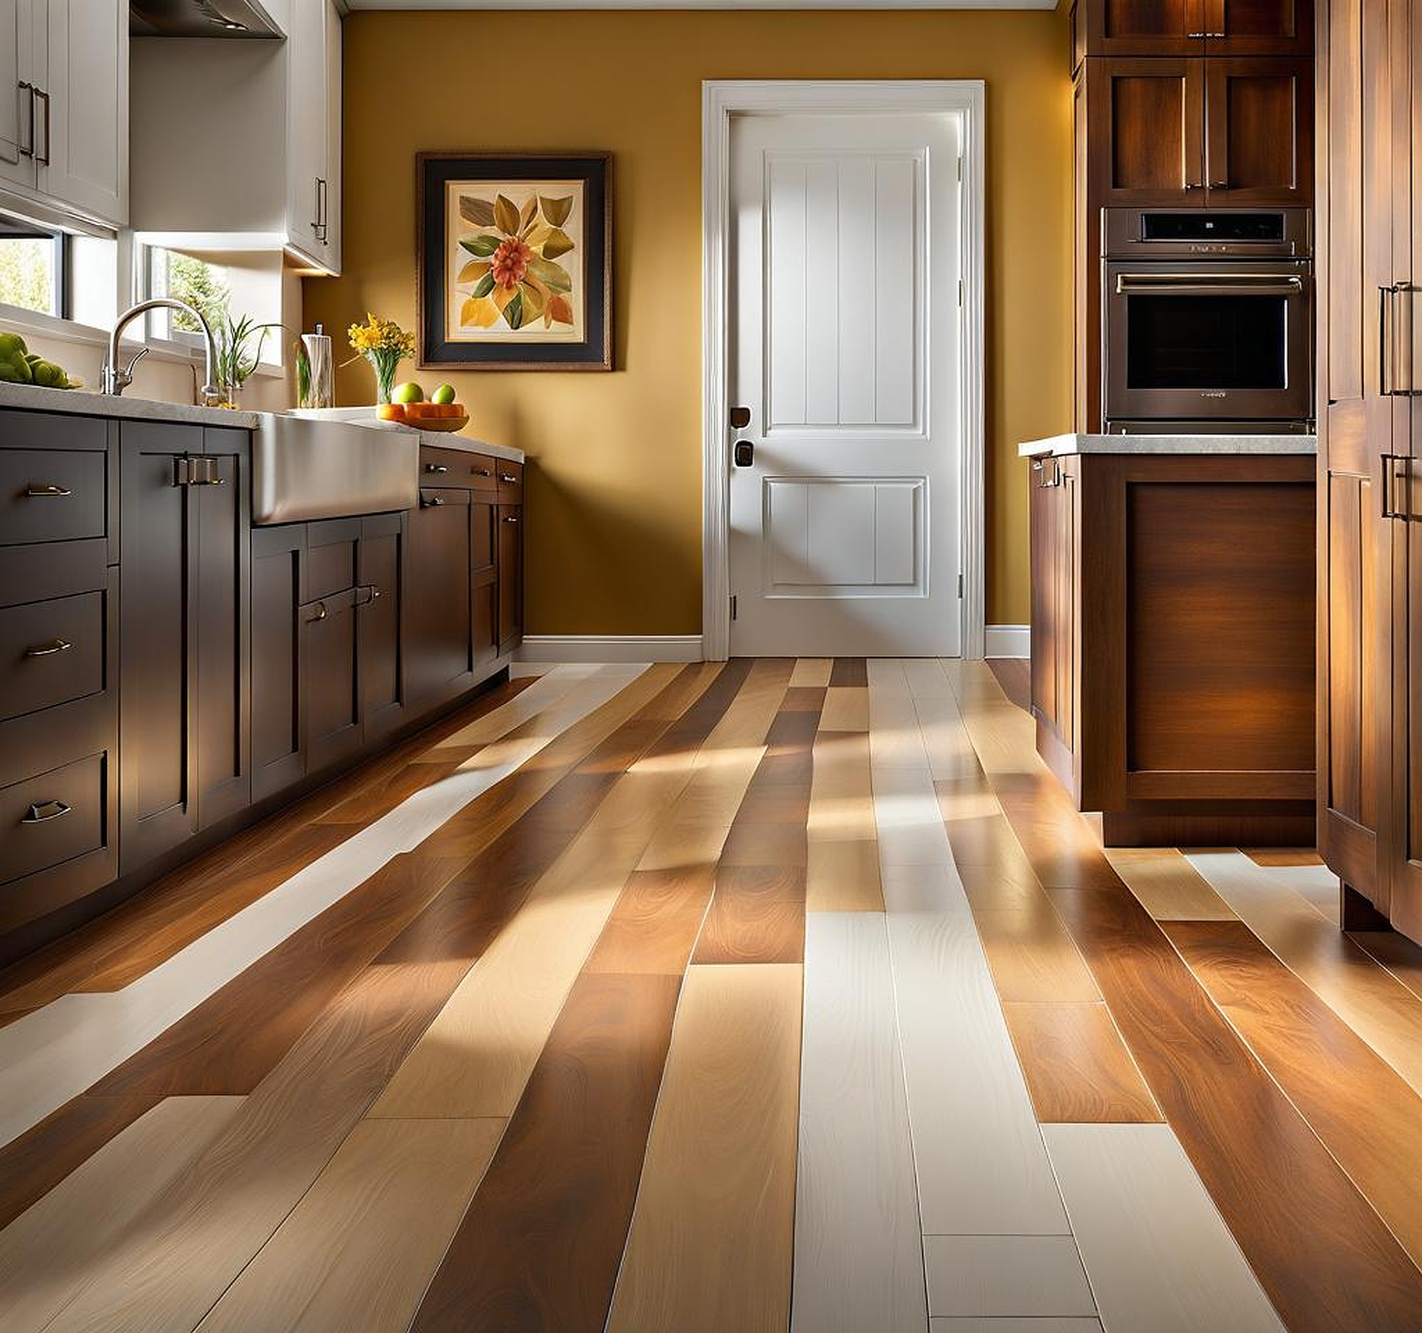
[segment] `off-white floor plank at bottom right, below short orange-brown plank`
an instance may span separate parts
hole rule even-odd
[[[1042,1134],[1108,1329],[1283,1329],[1167,1125]]]

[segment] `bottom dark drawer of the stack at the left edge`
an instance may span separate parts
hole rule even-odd
[[[0,788],[0,883],[104,845],[104,755]]]

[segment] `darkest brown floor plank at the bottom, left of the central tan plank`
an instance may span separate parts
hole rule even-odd
[[[412,1333],[603,1327],[678,990],[663,974],[577,980]]]

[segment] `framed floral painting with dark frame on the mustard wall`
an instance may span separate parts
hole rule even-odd
[[[609,155],[422,152],[419,364],[611,370]]]

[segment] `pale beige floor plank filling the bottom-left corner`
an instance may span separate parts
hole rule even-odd
[[[245,1098],[169,1097],[0,1232],[0,1327],[43,1329]]]

